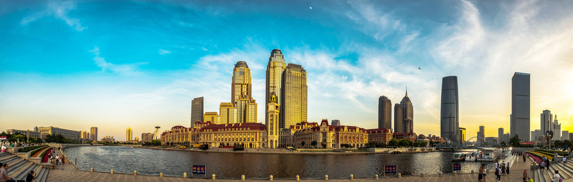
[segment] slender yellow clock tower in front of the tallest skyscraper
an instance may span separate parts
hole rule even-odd
[[[276,96],[273,94],[270,96],[270,102],[266,104],[266,115],[268,120],[266,120],[266,131],[268,131],[268,145],[269,148],[278,147],[278,128],[279,128],[279,118],[278,113],[280,107],[278,106]]]

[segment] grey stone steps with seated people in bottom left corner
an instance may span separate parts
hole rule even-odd
[[[15,180],[26,180],[30,171],[34,171],[36,181],[44,182],[48,178],[49,169],[36,165],[8,152],[0,153],[0,163],[8,164],[8,176]]]

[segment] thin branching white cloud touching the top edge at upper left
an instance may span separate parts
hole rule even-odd
[[[68,16],[70,10],[76,9],[76,2],[74,1],[52,1],[48,3],[45,10],[38,11],[20,21],[20,25],[28,25],[28,23],[44,18],[45,16],[52,16],[54,18],[64,21],[68,26],[73,27],[77,31],[83,31],[87,27],[81,26],[80,19],[71,18]]]

